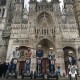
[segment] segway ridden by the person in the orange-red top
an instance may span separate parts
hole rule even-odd
[[[26,61],[25,61],[25,69],[22,70],[22,73],[21,73],[21,77],[22,79],[24,78],[33,78],[33,72],[30,71],[30,65],[31,65],[31,58],[26,58]]]

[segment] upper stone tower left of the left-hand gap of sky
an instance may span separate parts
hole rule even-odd
[[[24,0],[16,0],[14,8],[13,23],[21,23]]]

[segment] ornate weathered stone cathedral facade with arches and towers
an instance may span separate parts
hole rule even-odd
[[[77,1],[77,0],[76,0]],[[76,59],[80,69],[79,25],[73,0],[64,0],[61,12],[59,0],[29,0],[29,12],[24,0],[0,0],[0,59],[10,62],[16,47],[31,47],[31,69],[35,70],[36,48],[41,45],[44,61],[52,47],[56,56],[56,68],[66,72],[68,55]],[[72,53],[69,53],[69,52]],[[24,52],[23,52],[24,53]],[[24,58],[22,59],[24,61]],[[20,59],[21,61],[21,59]]]

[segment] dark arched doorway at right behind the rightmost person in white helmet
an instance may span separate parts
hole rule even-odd
[[[72,47],[65,47],[63,48],[64,51],[64,63],[65,63],[65,71],[67,74],[67,70],[68,70],[68,66],[69,64],[69,57],[72,58],[72,60],[74,60],[72,62],[72,64],[76,64],[76,50]]]

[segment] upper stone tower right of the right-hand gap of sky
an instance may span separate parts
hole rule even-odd
[[[73,0],[64,0],[64,9],[66,13],[66,22],[75,22],[75,14],[73,9]]]

